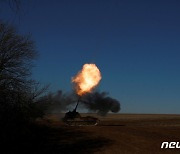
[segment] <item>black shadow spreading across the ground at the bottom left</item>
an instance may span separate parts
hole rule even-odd
[[[29,131],[29,132],[28,132]],[[62,154],[94,153],[112,143],[111,140],[93,136],[77,129],[52,128],[33,125],[21,135],[6,138],[1,153]]]

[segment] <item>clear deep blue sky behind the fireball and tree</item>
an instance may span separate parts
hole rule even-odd
[[[52,90],[71,91],[93,62],[121,112],[180,113],[179,0],[33,0],[17,13],[0,3],[0,18],[32,35],[33,77]]]

